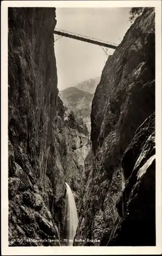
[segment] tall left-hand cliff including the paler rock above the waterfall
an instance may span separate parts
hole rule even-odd
[[[64,122],[55,8],[9,8],[8,13],[9,245],[58,246],[28,238],[58,239],[64,182],[78,198],[89,142]]]

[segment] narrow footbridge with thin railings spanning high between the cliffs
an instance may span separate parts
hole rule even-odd
[[[113,44],[111,42],[106,42],[106,41],[103,41],[103,40],[99,40],[99,39],[92,38],[92,37],[87,37],[87,36],[84,36],[84,35],[74,34],[72,32],[68,32],[68,31],[65,31],[65,30],[55,29],[54,34],[69,37],[69,38],[73,38],[73,39],[84,41],[84,42],[89,42],[90,44],[104,46],[104,47],[111,48],[111,49],[116,49],[117,48],[117,45]]]

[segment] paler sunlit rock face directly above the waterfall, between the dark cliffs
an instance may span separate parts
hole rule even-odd
[[[58,101],[59,108],[54,120],[53,137],[47,162],[47,176],[53,181],[55,199],[56,195],[59,199],[60,195],[64,193],[64,182],[66,181],[74,191],[78,206],[81,175],[84,170],[84,160],[90,150],[90,141],[87,135],[72,128],[68,120],[64,121],[64,117],[60,116],[60,113],[64,114],[64,106],[61,99],[58,98]],[[57,205],[59,206],[60,203],[57,202]]]

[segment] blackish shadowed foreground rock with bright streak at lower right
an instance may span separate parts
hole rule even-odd
[[[136,130],[123,155],[122,167],[124,177],[129,175],[129,178],[117,201],[120,218],[114,225],[108,245],[154,246],[155,114]]]

